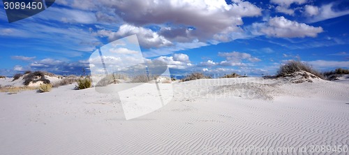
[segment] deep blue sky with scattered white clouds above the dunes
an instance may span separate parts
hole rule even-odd
[[[0,22],[0,75],[82,74],[97,46],[133,34],[173,75],[273,75],[290,59],[320,71],[349,66],[343,0],[57,0],[13,23],[0,9]]]

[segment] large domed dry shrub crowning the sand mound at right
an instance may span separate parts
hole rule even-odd
[[[324,79],[325,77],[323,77],[323,75],[318,72],[315,71],[315,69],[313,69],[313,67],[311,67],[309,64],[306,63],[302,63],[301,61],[288,61],[287,64],[280,66],[279,70],[277,71],[277,77],[283,77],[285,75],[290,75],[292,73],[295,73],[297,71],[306,71],[308,73],[312,73],[313,75],[316,75],[322,79]]]

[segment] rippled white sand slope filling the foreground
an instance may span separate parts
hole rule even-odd
[[[128,121],[118,96],[73,87],[0,93],[1,154],[232,154],[250,145],[349,144],[346,82],[176,82],[168,105]]]

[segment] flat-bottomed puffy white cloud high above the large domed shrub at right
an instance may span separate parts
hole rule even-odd
[[[253,23],[252,34],[267,35],[276,38],[304,38],[306,36],[316,37],[323,29],[308,24],[294,22],[285,17],[272,17],[265,23]]]

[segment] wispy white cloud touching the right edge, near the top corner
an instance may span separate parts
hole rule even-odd
[[[343,15],[349,15],[349,10],[339,10],[338,8],[341,3],[327,3],[319,7],[317,6],[306,6],[305,15],[308,16],[308,22],[320,22],[322,20],[328,20],[334,17],[341,17]],[[344,3],[343,5],[348,5]]]

